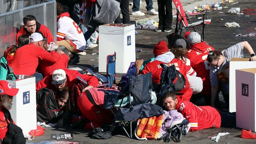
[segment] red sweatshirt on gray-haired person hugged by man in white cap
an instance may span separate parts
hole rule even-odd
[[[56,53],[54,50],[50,53]],[[62,54],[61,58],[55,63],[49,63],[46,61],[40,61],[37,67],[39,73],[43,74],[44,76],[49,75],[56,69],[67,69],[68,67],[69,56],[66,54]]]

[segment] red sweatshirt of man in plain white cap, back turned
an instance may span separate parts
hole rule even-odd
[[[33,75],[36,73],[39,60],[55,63],[60,59],[59,53],[49,53],[34,44],[18,48],[10,64],[15,75]]]

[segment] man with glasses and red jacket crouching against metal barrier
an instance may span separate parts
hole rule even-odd
[[[18,44],[18,37],[23,34],[33,34],[35,32],[41,31],[43,35],[47,38],[48,44],[55,44],[53,35],[50,30],[43,24],[37,22],[37,19],[33,15],[27,15],[23,18],[24,26],[18,31],[16,35],[16,45]]]

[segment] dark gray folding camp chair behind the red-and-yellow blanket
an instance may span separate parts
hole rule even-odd
[[[106,90],[107,91],[107,90]],[[117,114],[115,114],[114,124],[112,125],[110,131],[112,132],[114,128],[117,126],[116,123],[120,124],[122,126],[123,130],[126,132],[127,136],[131,138],[133,136],[132,134],[132,121],[137,120],[140,115],[145,112],[142,112],[143,110],[150,109],[147,104],[151,100],[151,94],[152,94],[152,73],[149,72],[144,75],[130,75],[129,76],[129,82],[126,86],[123,87],[123,89],[120,91],[120,94],[106,94],[105,91],[105,97],[104,97],[104,108],[113,108],[114,103],[116,99],[120,99],[121,103],[123,102],[123,98],[126,96],[129,96],[129,104],[126,105],[128,108],[122,108],[120,107],[117,111]],[[133,97],[133,101],[131,100],[131,97]],[[144,105],[143,105],[144,104]],[[156,106],[156,105],[155,105]],[[158,106],[156,106],[158,107]],[[161,107],[159,107],[161,108]],[[136,111],[140,110],[140,111]],[[157,111],[157,110],[156,110]],[[142,114],[142,115],[143,115]],[[124,128],[125,123],[123,121],[129,121],[130,123],[130,135],[127,133],[126,129]]]

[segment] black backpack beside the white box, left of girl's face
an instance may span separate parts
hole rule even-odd
[[[63,111],[58,108],[53,90],[42,88],[37,91],[37,121],[57,122],[63,115]]]

